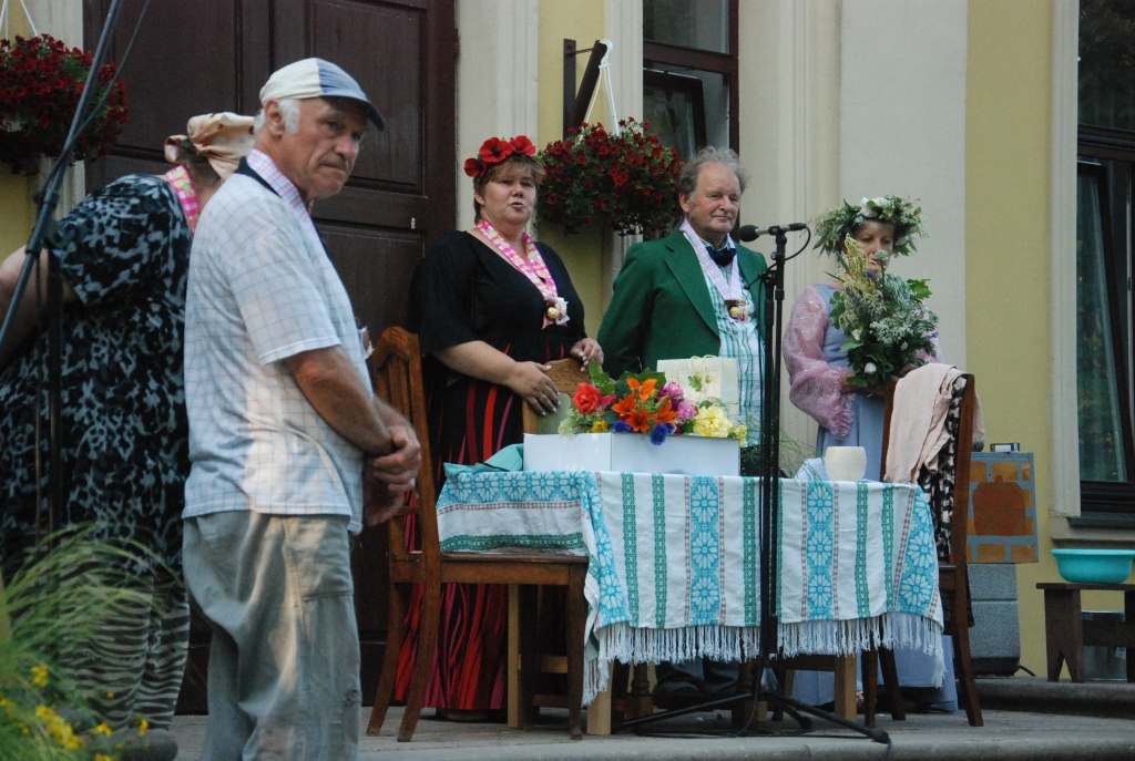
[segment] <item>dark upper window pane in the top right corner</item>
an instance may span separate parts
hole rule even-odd
[[[1135,0],[1081,0],[1079,121],[1135,130]]]

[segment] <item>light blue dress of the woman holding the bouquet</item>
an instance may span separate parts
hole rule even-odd
[[[817,285],[816,290],[827,303],[827,313],[832,311],[832,294],[835,289],[827,285]],[[824,331],[824,361],[833,367],[847,367],[848,355],[840,350],[847,333],[836,328],[831,320]],[[883,413],[886,400],[869,394],[857,394],[851,412],[855,415],[851,429],[842,439],[836,439],[826,428],[821,426],[816,437],[816,451],[821,457],[827,447],[863,447],[867,450],[868,481],[878,481],[882,474],[883,456]],[[936,708],[958,710],[958,692],[953,680],[953,643],[949,636],[942,637],[943,656],[945,658],[945,676],[942,686],[931,683],[934,674],[934,659],[919,650],[899,648],[894,651],[896,668],[899,683],[903,687],[922,687],[927,692],[920,696],[920,702],[934,704]],[[882,686],[882,674],[878,684]],[[859,685],[863,688],[863,685]],[[793,697],[812,705],[822,705],[834,700],[835,675],[830,671],[799,671],[792,691]]]

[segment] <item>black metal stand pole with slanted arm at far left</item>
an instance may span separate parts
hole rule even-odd
[[[8,305],[8,314],[3,325],[0,327],[0,355],[3,354],[5,345],[11,340],[12,327],[16,322],[16,313],[19,311],[20,302],[27,290],[32,271],[40,262],[40,252],[44,243],[54,243],[56,237],[56,208],[59,205],[59,187],[62,185],[64,168],[70,163],[70,157],[75,150],[75,134],[83,124],[86,108],[98,91],[99,69],[102,68],[102,60],[106,57],[107,48],[110,44],[110,36],[114,34],[115,22],[118,19],[118,11],[123,0],[112,0],[110,10],[107,12],[107,20],[99,36],[99,46],[95,48],[94,57],[91,61],[91,69],[86,75],[86,86],[78,99],[78,108],[72,119],[70,129],[67,133],[67,141],[64,150],[56,159],[51,172],[48,175],[48,184],[43,188],[36,211],[35,225],[32,227],[32,237],[28,238],[24,247],[24,267],[16,281],[12,291],[11,303]],[[54,532],[57,518],[62,509],[62,301],[64,281],[60,271],[59,257],[52,251],[48,255],[48,416],[49,416],[49,458],[48,458],[48,531]],[[39,507],[36,507],[39,509]]]

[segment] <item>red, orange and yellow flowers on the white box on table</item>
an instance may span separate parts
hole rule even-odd
[[[654,445],[678,434],[745,441],[746,426],[733,423],[717,399],[692,403],[663,373],[625,372],[614,381],[595,365],[590,367],[592,382],[575,388],[560,433],[648,433]]]

